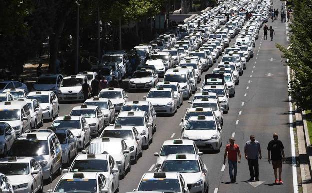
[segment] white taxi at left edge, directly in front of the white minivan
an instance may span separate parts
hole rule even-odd
[[[32,157],[0,159],[0,171],[12,182],[15,193],[43,192],[43,173]]]

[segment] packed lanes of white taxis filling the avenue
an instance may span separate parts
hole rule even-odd
[[[158,171],[145,173],[135,191],[207,192],[209,172],[200,150],[219,151],[222,146],[223,113],[230,110],[230,96],[234,97],[246,61],[254,55],[255,39],[269,6],[266,0],[223,2],[150,44],[135,47],[142,59],[136,71],[123,51],[112,51],[103,55],[101,64],[93,65],[96,72],[41,75],[37,84],[52,83],[49,91],[38,87],[28,94],[23,85],[3,82],[1,153],[8,157],[0,159],[0,172],[5,174],[0,175],[5,184],[2,192],[40,192],[43,180],[52,182],[62,172],[54,192],[118,192],[119,179],[152,143],[157,114],[174,116],[183,100],[196,91],[181,120],[181,137],[165,141],[159,153],[154,153]],[[248,22],[247,10],[254,13]],[[229,47],[236,35],[234,46]],[[146,56],[150,59],[145,60]],[[202,71],[219,56],[222,59],[213,74],[205,75],[203,84],[197,85]],[[105,73],[119,80],[133,70],[129,90],[148,90],[144,100],[129,101],[124,89],[109,87],[74,107],[69,115],[58,116],[59,102],[84,100],[82,83],[93,80],[107,66]],[[38,129],[43,120],[53,121],[51,127]],[[96,138],[91,140],[91,136]],[[77,155],[78,150],[82,154]],[[62,170],[63,164],[69,169]]]

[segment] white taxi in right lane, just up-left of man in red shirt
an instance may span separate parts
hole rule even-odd
[[[190,139],[199,149],[220,150],[222,128],[215,117],[190,117],[182,131],[183,139]]]

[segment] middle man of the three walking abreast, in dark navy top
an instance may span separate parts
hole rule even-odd
[[[259,181],[259,159],[262,159],[260,143],[255,140],[254,135],[250,135],[244,147],[245,158],[248,160],[250,179],[249,181]],[[259,156],[260,155],[260,156]]]

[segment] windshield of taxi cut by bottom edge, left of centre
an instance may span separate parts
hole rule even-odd
[[[62,179],[57,184],[54,192],[95,193],[96,187],[96,179]]]

